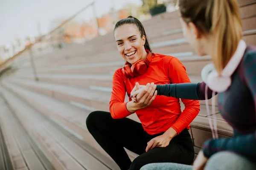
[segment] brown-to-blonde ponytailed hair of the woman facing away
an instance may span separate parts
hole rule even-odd
[[[237,0],[179,0],[180,14],[202,34],[212,35],[212,61],[220,74],[242,37]]]

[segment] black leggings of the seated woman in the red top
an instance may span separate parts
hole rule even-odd
[[[145,152],[147,142],[163,133],[149,135],[141,123],[128,118],[113,119],[109,112],[104,111],[90,113],[86,125],[121,170],[140,170],[143,165],[155,162],[191,164],[194,159],[194,147],[187,129],[175,136],[167,147],[156,147]],[[131,162],[124,147],[140,156]]]

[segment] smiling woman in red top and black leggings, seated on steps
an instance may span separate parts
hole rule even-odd
[[[90,113],[89,132],[121,170],[140,170],[154,162],[191,164],[194,147],[188,129],[200,111],[198,100],[181,99],[181,111],[178,98],[157,96],[156,85],[147,84],[190,82],[185,67],[175,57],[152,53],[143,25],[134,17],[118,21],[114,37],[126,63],[113,75],[110,112]],[[133,102],[136,82],[146,85],[148,93]],[[127,118],[135,112],[141,123]],[[131,162],[124,147],[139,156]]]

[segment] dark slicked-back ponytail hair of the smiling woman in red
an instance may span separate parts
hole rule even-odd
[[[125,25],[125,24],[131,24],[131,25],[135,25],[137,26],[138,30],[140,31],[140,36],[141,38],[143,37],[143,35],[145,35],[146,37],[146,40],[145,40],[145,44],[144,44],[144,48],[146,50],[149,50],[150,52],[152,52],[151,48],[150,48],[150,45],[148,43],[148,37],[145,33],[145,29],[142,25],[142,23],[135,17],[132,17],[132,16],[129,16],[127,18],[124,18],[122,20],[119,20],[116,25],[115,25],[115,28],[114,28],[114,31],[116,30],[116,28],[118,28],[119,26],[122,26],[122,25]]]

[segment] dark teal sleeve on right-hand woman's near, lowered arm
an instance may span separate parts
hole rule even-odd
[[[253,96],[256,110],[256,51],[248,51],[244,56],[244,74],[245,82]],[[219,151],[231,151],[247,157],[250,160],[256,160],[256,131],[246,135],[236,136],[234,138],[210,139],[204,143],[204,155],[209,158]]]

